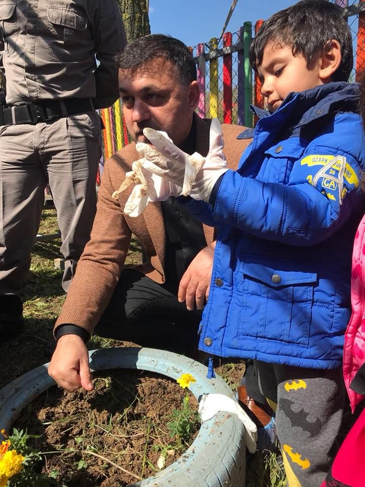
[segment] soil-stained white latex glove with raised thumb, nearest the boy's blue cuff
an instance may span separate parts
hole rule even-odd
[[[197,200],[209,201],[210,193],[217,179],[227,171],[227,161],[223,153],[224,141],[220,122],[211,121],[209,133],[209,152],[206,157],[197,152],[192,155],[181,151],[161,132],[153,128],[144,128],[143,134],[155,146],[160,154],[153,152],[148,144],[141,162],[145,169],[182,188],[184,196],[190,195]]]

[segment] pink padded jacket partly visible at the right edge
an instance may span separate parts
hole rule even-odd
[[[343,371],[351,408],[363,399],[365,381],[362,378],[362,390],[354,387],[352,381],[361,367],[365,367],[365,217],[357,229],[352,254],[351,306],[352,315],[345,333]],[[363,375],[363,373],[362,373]],[[359,384],[357,384],[358,386]],[[351,386],[355,390],[351,389]],[[358,391],[358,392],[356,392]]]

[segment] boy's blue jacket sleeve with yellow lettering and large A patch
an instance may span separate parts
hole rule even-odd
[[[358,207],[364,169],[360,119],[338,114],[333,132],[319,134],[294,161],[287,184],[228,170],[209,201],[213,218],[269,240],[315,245],[341,228]],[[189,203],[193,213],[199,206]]]

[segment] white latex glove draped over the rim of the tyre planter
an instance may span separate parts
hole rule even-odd
[[[251,421],[247,413],[238,402],[224,394],[203,394],[199,402],[199,415],[202,423],[210,420],[217,412],[225,411],[237,414],[245,427],[246,445],[250,453],[256,451],[258,438],[257,426]]]

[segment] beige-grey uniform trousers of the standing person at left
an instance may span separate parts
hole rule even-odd
[[[67,291],[96,210],[101,124],[96,112],[0,127],[0,295],[19,294],[49,183]]]

